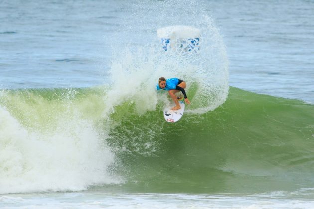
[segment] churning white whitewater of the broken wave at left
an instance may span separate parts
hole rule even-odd
[[[54,132],[23,127],[0,107],[0,193],[77,191],[118,183],[114,155],[89,121],[60,120]]]

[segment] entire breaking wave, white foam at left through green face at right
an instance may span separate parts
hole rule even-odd
[[[128,100],[106,114],[108,92],[2,90],[0,193],[102,185],[187,193],[314,186],[311,104],[231,87],[214,111],[186,112],[170,124],[162,100],[145,111]]]

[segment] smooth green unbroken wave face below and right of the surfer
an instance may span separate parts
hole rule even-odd
[[[161,111],[161,108],[159,109]],[[131,188],[153,192],[313,186],[314,106],[231,88],[215,111],[165,123],[160,111],[110,131]]]

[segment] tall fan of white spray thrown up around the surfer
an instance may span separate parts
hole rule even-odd
[[[187,82],[191,104],[186,112],[204,113],[223,104],[229,89],[228,57],[219,28],[210,12],[202,9],[201,2],[170,0],[129,4],[132,18],[126,18],[115,35],[123,44],[112,45],[114,53],[109,71],[112,88],[105,98],[114,100],[110,112],[123,101],[135,103],[142,114],[154,110],[160,101],[154,88],[162,76]],[[173,8],[177,6],[180,6],[180,15],[173,15]],[[167,26],[199,30],[199,50],[163,50],[157,30]]]

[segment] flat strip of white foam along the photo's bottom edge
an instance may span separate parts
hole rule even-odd
[[[0,197],[1,204],[10,204],[16,208],[111,208],[111,209],[160,209],[160,208],[197,208],[197,209],[261,209],[279,208],[313,209],[314,201],[311,197],[300,197],[279,192],[279,196],[272,193],[265,194],[108,194],[108,193],[76,193],[69,197],[69,193],[41,195],[27,195],[20,197]],[[295,193],[295,192],[293,192]],[[313,194],[312,194],[313,195]]]

